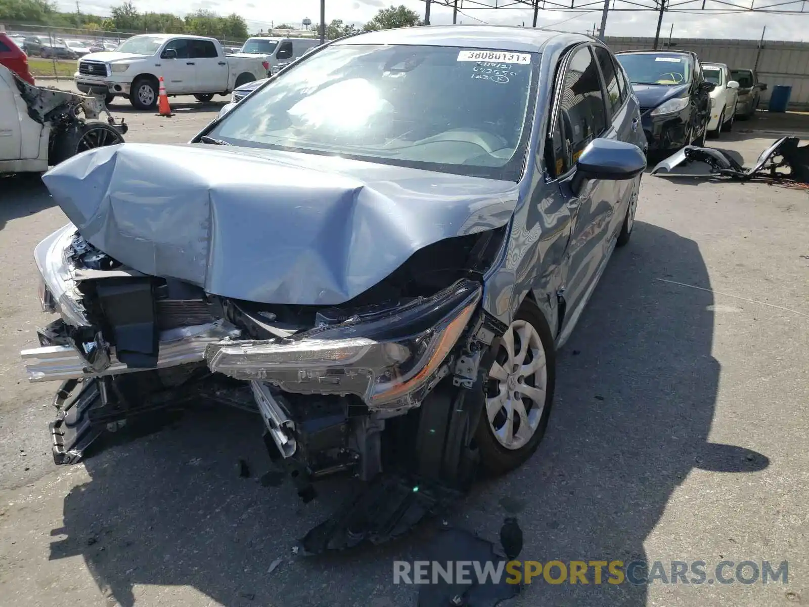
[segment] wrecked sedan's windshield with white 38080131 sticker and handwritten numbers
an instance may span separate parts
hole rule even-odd
[[[537,57],[331,46],[284,70],[209,135],[235,145],[518,180]]]

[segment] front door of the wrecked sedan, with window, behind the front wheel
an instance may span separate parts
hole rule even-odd
[[[610,124],[598,62],[589,44],[574,48],[566,58],[564,75],[557,80],[557,98],[563,152],[553,162],[555,171],[562,174],[559,188],[571,218],[570,240],[561,267],[566,327],[575,323],[612,251],[612,216],[623,189],[617,181],[585,180],[574,191],[575,163],[587,144],[599,137],[616,138],[619,131],[625,131],[625,125],[616,129]],[[631,118],[625,117],[631,129]]]

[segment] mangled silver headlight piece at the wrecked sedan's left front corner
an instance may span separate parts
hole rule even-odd
[[[40,304],[45,312],[59,312],[68,325],[87,326],[80,295],[70,274],[66,249],[76,228],[72,224],[53,232],[34,249],[34,261],[40,270]]]

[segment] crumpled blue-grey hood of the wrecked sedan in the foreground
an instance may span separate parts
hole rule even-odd
[[[121,263],[266,304],[341,304],[419,248],[506,224],[518,199],[507,181],[207,144],[96,148],[43,180]]]

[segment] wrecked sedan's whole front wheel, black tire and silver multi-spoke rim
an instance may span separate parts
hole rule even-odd
[[[525,299],[498,346],[475,433],[481,465],[502,474],[523,464],[548,427],[556,354],[540,308]]]

